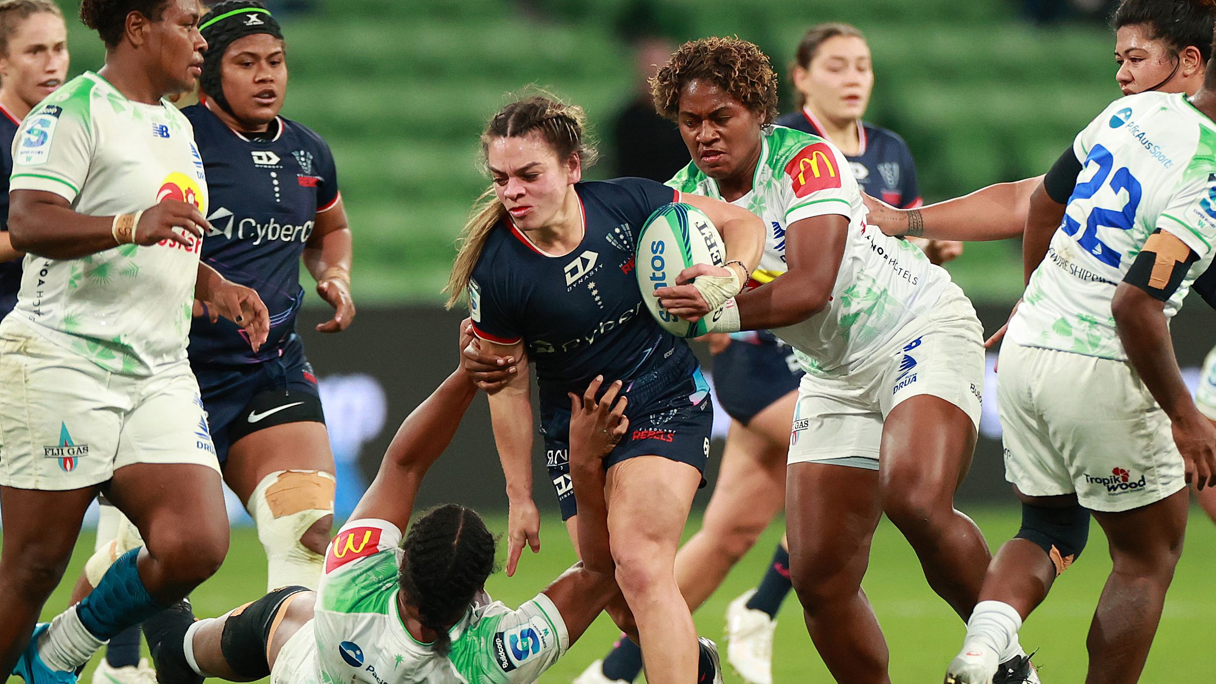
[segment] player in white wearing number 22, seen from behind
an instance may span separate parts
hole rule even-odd
[[[991,680],[993,654],[1085,548],[1091,511],[1114,568],[1090,628],[1086,682],[1139,679],[1182,554],[1187,483],[1216,484],[1216,427],[1182,381],[1169,330],[1216,245],[1214,88],[1209,61],[1194,97],[1142,92],[1109,105],[1076,136],[1082,170],[1045,252],[1029,247],[1047,241],[1031,211],[1031,276],[997,387],[1023,526],[992,559],[947,683]]]

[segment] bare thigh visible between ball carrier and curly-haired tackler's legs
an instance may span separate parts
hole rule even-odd
[[[702,531],[715,538],[754,537],[784,508],[784,443],[775,445],[766,436],[731,421]]]

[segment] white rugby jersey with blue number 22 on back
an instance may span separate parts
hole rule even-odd
[[[1116,100],[1073,144],[1083,163],[1047,258],[1030,277],[1009,338],[1124,360],[1110,302],[1160,229],[1199,254],[1165,303],[1173,316],[1216,243],[1216,124],[1186,95]]]

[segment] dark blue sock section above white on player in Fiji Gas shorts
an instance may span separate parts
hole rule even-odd
[[[140,549],[126,551],[101,577],[97,587],[77,604],[80,624],[102,641],[113,639],[164,610],[140,579],[135,560]]]

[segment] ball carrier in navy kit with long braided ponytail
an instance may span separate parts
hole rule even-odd
[[[694,287],[704,291],[699,301],[716,307],[747,281],[764,229],[745,209],[685,197],[655,181],[581,183],[593,161],[582,131],[581,110],[544,96],[513,102],[490,119],[482,142],[494,195],[466,226],[449,305],[467,290],[482,344],[535,361],[547,465],[565,520],[576,512],[565,393],[596,375],[625,381],[632,430],[606,461],[617,579],[635,607],[649,682],[692,682],[696,630],[672,565],[709,454],[713,405],[687,343],[647,315],[634,274],[635,236],[672,201],[704,211],[722,234],[726,267],[710,267]],[[530,381],[528,366],[518,369],[490,396],[511,505],[508,574],[525,544],[533,551],[540,544]],[[568,527],[578,546],[574,523]],[[614,618],[627,623],[620,609]]]

